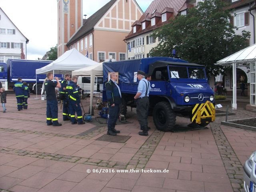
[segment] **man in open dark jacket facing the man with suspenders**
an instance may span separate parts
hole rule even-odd
[[[115,129],[116,120],[118,119],[119,111],[120,111],[120,104],[122,104],[121,100],[121,91],[116,84],[116,80],[118,79],[118,75],[115,72],[110,73],[110,80],[106,83],[106,95],[107,95],[107,102],[108,102],[108,135],[115,136],[120,131]]]

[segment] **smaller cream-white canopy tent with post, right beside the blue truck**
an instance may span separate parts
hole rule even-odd
[[[103,62],[102,62],[103,63]],[[90,114],[92,114],[92,101],[93,101],[93,90],[94,90],[94,79],[95,76],[103,75],[102,63],[98,63],[93,66],[88,66],[82,69],[72,71],[72,76],[88,76],[91,77],[91,88],[90,88]]]

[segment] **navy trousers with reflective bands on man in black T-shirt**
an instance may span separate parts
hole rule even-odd
[[[46,122],[47,124],[58,124],[58,102],[57,100],[47,100]]]

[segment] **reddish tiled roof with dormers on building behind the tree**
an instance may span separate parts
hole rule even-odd
[[[180,10],[180,8],[184,5],[185,1],[186,0],[154,0],[150,4],[150,6],[148,6],[144,14],[140,17],[139,21],[142,22],[142,21],[145,21],[146,19],[148,20],[149,18],[151,18],[152,12],[154,12],[154,10],[156,10],[155,11],[156,14],[159,14],[159,13],[162,13],[164,9],[168,9],[168,10],[171,10],[170,12],[174,13],[174,16],[176,16],[178,14],[178,10]],[[130,33],[128,34],[128,36],[125,37],[124,40],[155,30],[163,26],[163,24],[165,24],[166,22],[156,23],[156,25],[148,26],[146,29],[138,30],[138,32],[136,33],[133,33],[133,31],[130,31]]]

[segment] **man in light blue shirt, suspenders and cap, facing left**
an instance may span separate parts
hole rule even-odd
[[[137,78],[140,81],[138,85],[138,92],[134,96],[134,99],[137,100],[137,116],[138,122],[140,123],[139,135],[148,136],[148,107],[149,107],[149,92],[151,90],[150,82],[145,79],[145,73],[143,71],[137,72]]]

